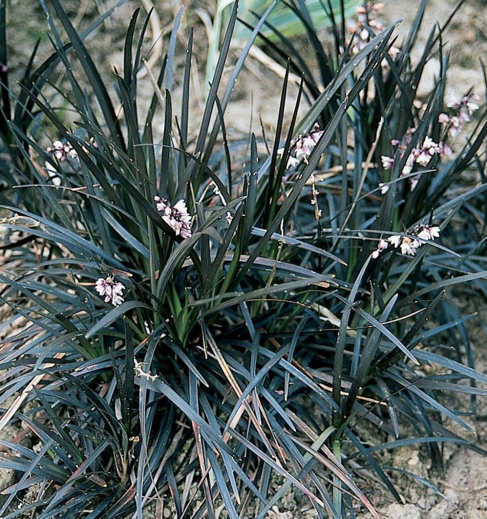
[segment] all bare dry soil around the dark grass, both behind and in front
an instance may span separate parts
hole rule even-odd
[[[99,2],[104,8],[114,4],[112,0]],[[170,33],[174,13],[177,12],[180,2],[177,0],[155,1],[155,7],[160,18],[161,28],[164,34]],[[204,79],[202,77],[202,63],[206,57],[205,32],[202,29],[198,17],[194,13],[196,2],[186,1],[187,12],[182,18],[180,44],[184,44],[188,28],[195,24],[195,48],[194,48],[194,71],[198,76],[192,84],[191,121],[194,128],[199,125],[199,117],[202,112]],[[76,4],[76,6],[74,6]],[[72,16],[79,27],[86,26],[89,20],[94,19],[96,9],[93,8],[94,0],[80,0],[71,2],[66,0],[63,5],[72,9]],[[412,20],[414,18],[418,0],[386,0],[384,2],[384,22],[392,22],[402,18],[397,33],[399,41],[405,38]],[[454,0],[429,0],[423,31],[420,42],[426,42],[428,32],[435,23],[442,25],[454,8]],[[89,38],[87,46],[94,54],[94,59],[100,67],[101,72],[107,80],[112,81],[111,71],[115,65],[119,70],[122,68],[123,58],[121,45],[128,21],[133,10],[139,7],[138,0],[129,0],[126,5],[115,11],[114,15],[107,20],[104,26]],[[210,12],[212,2],[198,2],[200,7],[208,7]],[[9,34],[10,40],[10,69],[16,78],[20,78],[23,67],[28,60],[33,45],[37,38],[41,38],[40,55],[49,54],[49,41],[46,38],[46,17],[37,3],[26,3],[23,0],[10,0],[9,7]],[[471,87],[485,99],[485,90],[479,59],[487,62],[487,3],[485,0],[466,0],[465,5],[459,11],[450,26],[445,38],[445,46],[451,49],[451,68],[449,74],[449,85],[447,95],[461,96]],[[202,43],[203,42],[203,43]],[[164,48],[167,49],[168,38],[164,39]],[[418,52],[421,45],[417,46]],[[177,63],[180,66],[181,62]],[[181,70],[178,69],[177,70]],[[427,76],[434,80],[438,73],[438,62],[435,59],[429,61]],[[226,73],[228,77],[228,72]],[[145,83],[139,89],[139,95],[144,99],[150,99],[152,87],[149,79],[144,78]],[[176,86],[181,83],[178,75],[175,77]],[[62,84],[62,81],[61,83]],[[260,133],[259,118],[262,118],[264,127],[272,135],[280,98],[281,79],[273,72],[266,69],[264,65],[250,59],[249,66],[243,71],[234,93],[234,100],[228,106],[226,113],[227,131],[229,138],[240,138],[248,135],[249,130]],[[145,85],[145,86],[144,86]],[[425,81],[418,87],[418,95],[429,90],[431,83]],[[291,85],[288,89],[289,106],[292,106],[297,88]],[[249,111],[249,98],[252,99],[252,110]],[[174,106],[179,106],[180,98],[178,89],[175,89]],[[290,108],[291,110],[291,108]],[[69,113],[66,113],[69,117]],[[191,122],[190,122],[191,124]],[[160,122],[160,126],[162,121]],[[160,128],[161,129],[161,128]],[[190,128],[191,131],[191,128]],[[482,302],[479,302],[479,305]],[[471,322],[472,329],[482,329],[487,314]],[[477,352],[480,358],[480,367],[487,365],[487,350],[485,350],[485,334],[479,332],[476,335]],[[487,447],[487,426],[485,411],[487,405],[481,404],[477,419],[470,421],[471,426],[477,432],[477,442]],[[475,438],[469,438],[475,440]],[[487,459],[480,457],[466,449],[449,447],[446,449],[447,471],[443,477],[439,477],[428,470],[428,465],[422,459],[421,452],[415,448],[402,449],[394,454],[393,465],[404,468],[431,478],[450,501],[439,499],[431,490],[423,485],[412,482],[410,479],[401,479],[401,493],[404,495],[405,503],[392,502],[389,496],[381,488],[374,488],[371,495],[376,500],[377,508],[385,517],[393,519],[487,519]],[[7,474],[0,474],[2,476]],[[398,480],[399,481],[399,480]],[[0,485],[2,485],[0,481]],[[291,519],[293,517],[306,517],[300,508],[299,499],[292,494],[289,495],[279,511],[276,511],[279,519]],[[150,516],[147,516],[147,518]],[[368,515],[358,515],[359,519],[366,519]]]

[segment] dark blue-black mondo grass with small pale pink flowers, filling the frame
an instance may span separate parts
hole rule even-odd
[[[190,134],[181,13],[141,106],[151,14],[134,12],[109,88],[84,39],[110,12],[78,34],[59,0],[40,5],[53,52],[14,86],[0,2],[0,428],[26,431],[0,440],[17,476],[0,516],[263,519],[292,487],[317,517],[377,518],[364,474],[400,500],[385,452],[421,445],[440,471],[446,442],[485,454],[469,439],[487,376],[459,294],[487,295],[487,122],[478,91],[444,99],[448,22],[413,63],[426,2],[402,46],[370,3],[350,33],[323,2],[329,46],[290,2],[312,66],[278,27],[279,44],[259,36],[270,5],[232,62],[235,3]],[[224,114],[256,38],[286,70],[276,127],[233,147]]]

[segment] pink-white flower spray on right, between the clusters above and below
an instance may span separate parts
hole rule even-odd
[[[406,131],[406,134],[403,136],[401,140],[399,139],[393,139],[390,141],[390,143],[393,146],[397,146],[401,153],[399,154],[399,159],[402,159],[404,157],[405,150],[408,148],[408,146],[411,144],[412,141],[412,134],[416,131],[416,128],[409,128]],[[423,142],[423,145],[419,148],[413,148],[408,155],[408,158],[406,159],[406,163],[401,171],[401,176],[408,175],[413,170],[414,164],[418,164],[425,168],[429,161],[431,160],[431,157],[434,157],[436,154],[439,154],[440,156],[445,156],[450,153],[450,148],[445,145],[443,142],[436,143],[432,139],[430,139],[427,135],[425,137],[425,140]],[[394,167],[394,158],[388,157],[387,155],[381,156],[382,161],[382,167],[384,169],[393,169]],[[409,179],[409,187],[412,190],[416,187],[418,183],[417,177],[413,177]],[[387,184],[380,183],[379,187],[381,188],[381,193],[385,194],[389,190],[389,186]]]

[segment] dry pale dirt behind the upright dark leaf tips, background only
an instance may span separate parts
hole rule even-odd
[[[82,30],[94,20],[97,15],[97,9],[94,4],[102,6],[105,9],[116,3],[115,0],[79,0],[71,2],[64,0],[63,6],[71,15],[74,25]],[[92,36],[86,40],[87,48],[95,58],[100,73],[106,79],[107,84],[113,84],[113,69],[116,67],[118,71],[123,70],[123,39],[128,26],[130,17],[137,7],[150,5],[151,0],[127,0],[127,2],[117,8],[104,25],[99,28]],[[384,3],[383,16],[381,21],[393,22],[402,19],[402,23],[398,26],[396,34],[398,41],[401,42],[411,27],[417,6],[420,5],[419,0],[397,1],[389,0]],[[421,43],[426,42],[429,31],[434,28],[438,22],[443,25],[448,19],[456,5],[456,0],[428,0],[423,29],[420,34],[418,45],[416,45],[416,53],[413,56],[419,56],[421,52]],[[41,39],[40,57],[46,57],[50,53],[51,47],[46,35],[47,22],[46,16],[37,2],[26,4],[21,0],[10,0],[10,16],[9,25],[13,33],[10,42],[11,53],[9,68],[13,72],[13,79],[20,78],[25,63],[30,57],[32,48],[37,40]],[[172,29],[172,22],[178,9],[185,5],[186,9],[181,18],[181,26],[179,30],[179,46],[180,50],[187,44],[187,35],[191,26],[194,26],[195,37],[193,47],[193,75],[191,95],[190,95],[190,134],[191,125],[196,129],[199,126],[199,120],[204,107],[204,91],[205,76],[204,62],[207,57],[207,38],[205,30],[202,26],[200,18],[196,11],[206,11],[212,15],[214,10],[214,1],[212,0],[154,0],[154,6],[160,20],[160,28],[164,34],[163,50],[168,47],[168,36]],[[76,6],[76,8],[75,8]],[[483,7],[483,9],[482,9]],[[26,12],[26,10],[28,12]],[[145,10],[142,7],[140,18],[145,17]],[[487,3],[485,0],[466,0],[465,5],[457,13],[455,19],[450,25],[450,29],[445,37],[445,49],[451,50],[451,67],[450,81],[447,89],[448,97],[458,97],[463,95],[471,87],[476,87],[476,91],[484,97],[484,87],[481,67],[479,59],[487,61]],[[150,31],[148,31],[150,35]],[[323,31],[322,38],[327,38],[327,31]],[[147,38],[150,39],[150,38]],[[150,42],[147,42],[147,47]],[[240,48],[243,47],[243,43]],[[303,50],[306,53],[306,50]],[[233,49],[233,59],[239,53],[239,48]],[[310,57],[311,58],[311,57]],[[230,60],[230,61],[231,61]],[[178,88],[182,83],[182,74],[184,66],[184,53],[180,52],[175,60],[174,74],[174,91],[173,91],[173,111],[179,112],[181,103],[181,89]],[[159,63],[154,65],[154,74],[157,75]],[[439,63],[436,59],[431,59],[427,63],[427,71],[425,81],[418,85],[418,95],[426,93],[430,89],[430,80],[433,80],[435,74],[438,73]],[[223,84],[225,78],[231,74],[231,67],[224,72]],[[63,78],[57,81],[62,84]],[[225,122],[229,138],[248,138],[249,132],[256,134],[261,133],[260,118],[262,118],[264,127],[272,134],[276,124],[277,111],[279,106],[281,90],[281,78],[270,71],[265,64],[248,58],[247,66],[240,74],[239,79],[234,88],[232,102],[229,104]],[[138,90],[139,101],[150,100],[152,96],[152,85],[150,78],[146,75],[140,81]],[[297,94],[297,85],[290,83],[288,88],[288,106],[290,118],[292,106]],[[252,101],[251,110],[249,110],[249,98]],[[144,103],[142,102],[142,105]],[[303,104],[303,110],[306,106]],[[64,114],[65,117],[70,116],[69,113]],[[162,126],[163,117],[161,116],[160,125]],[[157,129],[156,129],[157,130]]]

